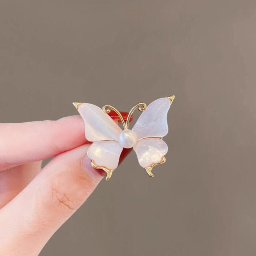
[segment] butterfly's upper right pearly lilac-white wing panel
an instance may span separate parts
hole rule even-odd
[[[161,98],[147,106],[132,128],[138,140],[147,137],[164,137],[168,133],[167,113],[170,105],[169,99]]]

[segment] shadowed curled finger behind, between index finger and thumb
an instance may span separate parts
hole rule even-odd
[[[41,171],[42,161],[36,161],[0,172],[0,209],[18,195]]]

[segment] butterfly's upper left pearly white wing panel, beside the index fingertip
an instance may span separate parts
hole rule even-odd
[[[79,105],[88,141],[118,140],[122,129],[101,108],[90,103]]]

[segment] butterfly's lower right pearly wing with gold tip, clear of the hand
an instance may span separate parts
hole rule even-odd
[[[145,138],[139,140],[133,147],[139,164],[147,171],[150,177],[154,177],[151,170],[157,164],[165,162],[165,154],[168,146],[160,138]]]

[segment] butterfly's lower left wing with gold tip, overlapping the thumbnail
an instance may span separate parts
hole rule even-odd
[[[118,166],[122,150],[123,147],[116,141],[96,141],[89,147],[87,155],[92,160],[92,167],[104,170],[108,180]]]

